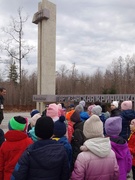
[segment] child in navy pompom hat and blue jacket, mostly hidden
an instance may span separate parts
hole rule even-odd
[[[68,160],[69,160],[69,166],[71,166],[72,162],[72,147],[71,144],[68,142],[66,134],[66,123],[65,123],[65,117],[60,116],[59,120],[54,123],[54,131],[53,131],[53,140],[58,141],[59,143],[62,143],[66,149]]]

